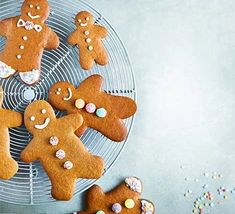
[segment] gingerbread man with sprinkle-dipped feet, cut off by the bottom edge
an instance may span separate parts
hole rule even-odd
[[[142,183],[136,177],[129,177],[114,190],[104,193],[94,185],[87,192],[86,211],[78,214],[154,214],[152,202],[140,199]]]

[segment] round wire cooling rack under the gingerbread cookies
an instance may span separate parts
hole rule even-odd
[[[20,14],[23,0],[1,0],[0,19]],[[101,74],[104,79],[104,90],[114,95],[128,96],[136,100],[135,81],[126,50],[112,26],[100,13],[87,3],[80,0],[49,0],[51,14],[47,24],[60,37],[60,47],[54,51],[45,51],[42,59],[42,73],[40,81],[34,86],[24,85],[14,76],[1,79],[5,100],[4,108],[24,112],[27,105],[33,100],[47,100],[49,87],[58,81],[69,81],[74,85],[94,73]],[[67,44],[68,35],[74,31],[74,17],[78,11],[88,10],[95,18],[95,22],[109,30],[109,36],[104,45],[109,52],[107,66],[95,65],[89,72],[83,71],[78,62],[78,49]],[[5,39],[0,37],[0,51]],[[63,115],[56,111],[57,117]],[[125,120],[130,132],[133,118]],[[10,129],[11,154],[19,163],[18,173],[9,181],[0,180],[0,201],[21,204],[38,205],[52,203],[51,183],[39,162],[26,164],[19,159],[20,152],[25,148],[32,136],[24,126]],[[106,162],[106,170],[112,166],[121,153],[125,143],[116,143],[100,133],[89,129],[81,138],[88,150],[95,155],[102,156]],[[95,180],[79,179],[75,195],[88,189]]]

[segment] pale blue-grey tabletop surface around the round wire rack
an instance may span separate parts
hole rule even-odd
[[[235,1],[88,2],[124,41],[138,86],[129,142],[98,184],[109,190],[126,176],[140,177],[143,198],[156,204],[157,214],[191,213],[194,198],[212,191],[215,206],[205,213],[233,214],[235,194],[220,200],[216,189],[235,187]],[[211,179],[211,172],[223,178]],[[193,191],[190,198],[183,196],[187,190]],[[64,214],[81,209],[81,198],[17,206],[11,213]],[[0,209],[9,212],[5,204]]]

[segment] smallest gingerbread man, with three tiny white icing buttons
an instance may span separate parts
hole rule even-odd
[[[102,38],[108,35],[105,27],[94,24],[93,16],[87,12],[79,12],[75,18],[77,29],[69,36],[68,43],[79,47],[81,67],[90,70],[94,61],[99,65],[108,63],[108,54]]]

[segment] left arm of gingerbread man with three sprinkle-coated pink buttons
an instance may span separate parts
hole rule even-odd
[[[21,152],[20,158],[26,163],[30,163],[39,158],[39,151],[41,148],[38,148],[40,142],[37,142],[35,139],[32,139],[28,146]]]

